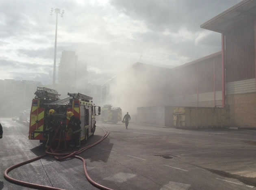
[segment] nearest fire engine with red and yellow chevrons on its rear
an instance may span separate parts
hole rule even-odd
[[[69,97],[60,99],[60,94],[56,90],[37,87],[30,111],[28,139],[39,140],[42,143],[46,142],[48,111],[53,109],[56,112],[54,114],[56,127],[65,131],[64,138],[61,140],[70,141],[71,139],[72,129],[67,131],[70,118],[66,115],[67,112],[71,111],[74,116],[81,120],[80,140],[87,142],[88,137],[95,132],[95,116],[100,115],[100,106],[95,106],[92,101],[93,98],[87,95],[81,93],[67,93],[67,95]],[[97,107],[98,109],[96,109]],[[59,139],[55,138],[54,140]]]

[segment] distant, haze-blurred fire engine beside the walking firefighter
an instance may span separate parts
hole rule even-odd
[[[101,121],[117,123],[122,120],[122,110],[121,108],[115,108],[111,105],[104,105],[102,108]]]

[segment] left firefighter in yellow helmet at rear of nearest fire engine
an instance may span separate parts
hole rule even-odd
[[[51,144],[52,142],[52,138],[54,135],[54,131],[55,131],[55,110],[51,109],[48,112],[48,117],[47,117],[47,127],[46,127],[46,133],[47,133],[47,141],[46,141],[46,148],[48,148],[48,146]]]

